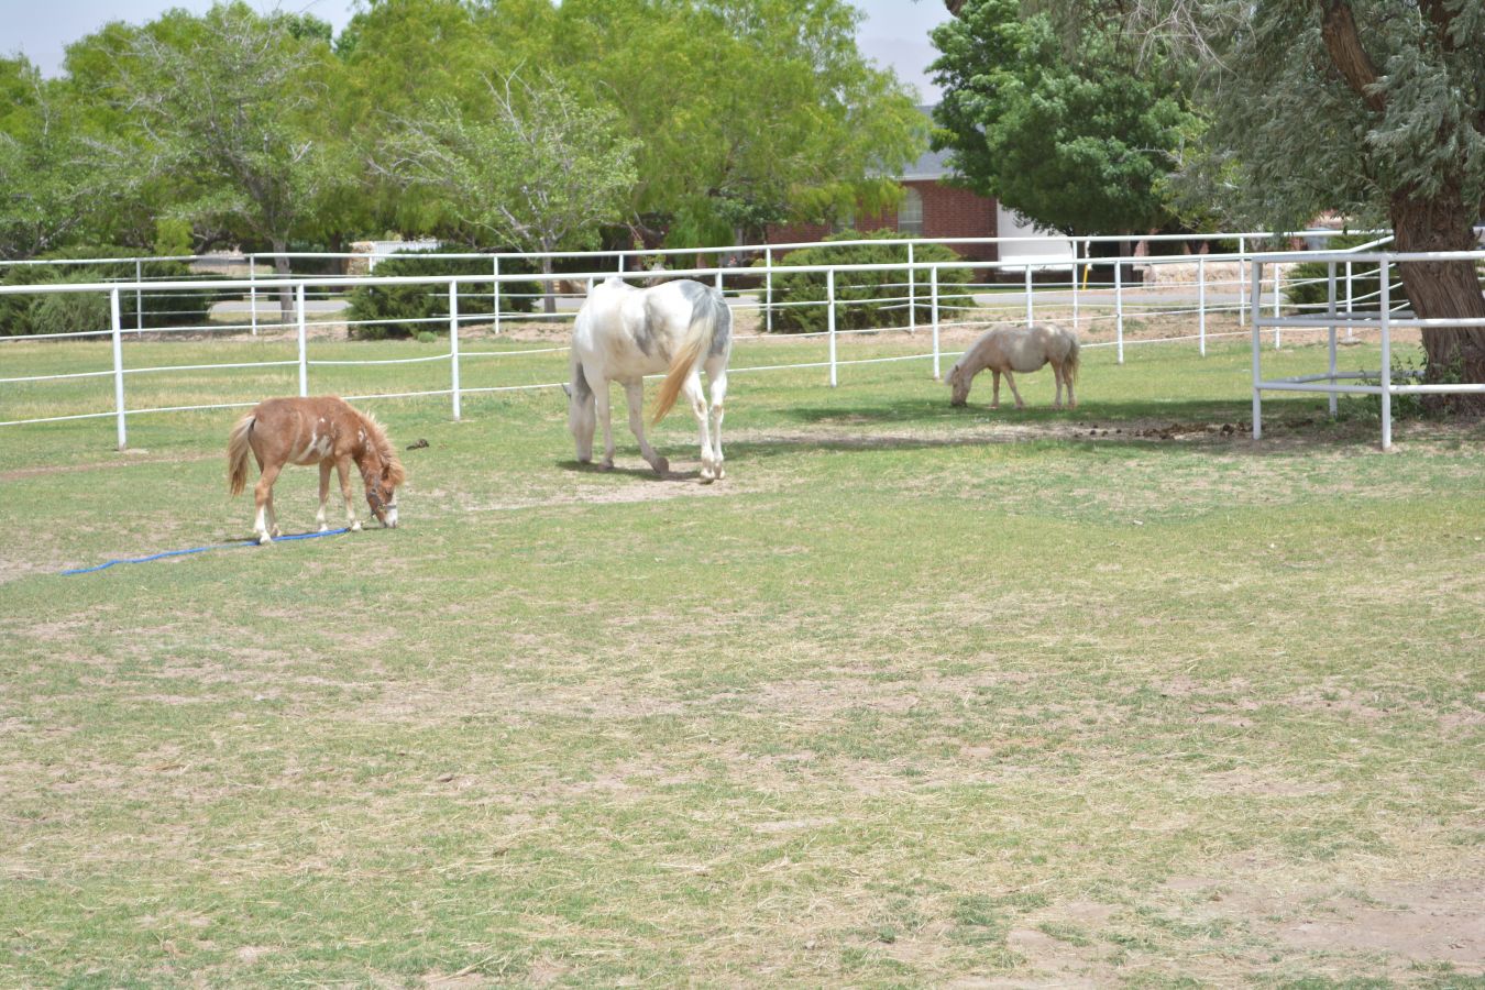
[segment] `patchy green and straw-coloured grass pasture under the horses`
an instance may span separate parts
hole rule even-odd
[[[658,479],[560,392],[367,404],[428,441],[401,528],[79,576],[248,536],[236,413],[0,430],[0,986],[1485,986],[1481,424],[1276,398],[1255,445],[1240,341],[1090,349],[1075,411],[824,374],[735,374],[710,487],[680,414]],[[0,413],[111,396],[52,389]]]

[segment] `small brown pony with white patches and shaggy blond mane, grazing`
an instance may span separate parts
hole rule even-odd
[[[340,475],[340,494],[346,500],[346,525],[361,530],[350,502],[350,462],[356,463],[367,490],[367,505],[382,525],[396,527],[396,487],[405,473],[386,430],[367,413],[358,413],[333,395],[312,399],[267,399],[247,413],[227,438],[227,488],[236,496],[248,479],[248,451],[258,462],[257,487],[252,490],[257,518],[252,531],[258,543],[279,536],[273,512],[273,482],[284,465],[319,465],[319,531],[325,524],[330,499],[330,469]]]

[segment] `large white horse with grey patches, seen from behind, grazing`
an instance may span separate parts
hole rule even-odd
[[[578,441],[578,460],[593,460],[594,419],[603,423],[603,460],[613,468],[609,381],[624,386],[630,429],[640,454],[656,473],[670,462],[644,439],[642,405],[644,376],[665,371],[650,424],[659,423],[685,392],[701,427],[701,482],[725,476],[722,469],[722,401],[728,393],[732,353],[732,310],[722,292],[680,279],[634,288],[619,278],[593,286],[572,334],[572,384],[567,386],[567,426]],[[711,404],[701,390],[701,368],[711,383]]]

